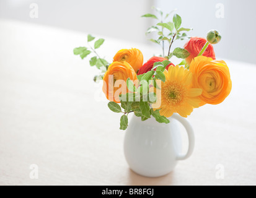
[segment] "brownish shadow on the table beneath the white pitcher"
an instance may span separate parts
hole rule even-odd
[[[174,172],[172,171],[165,176],[161,176],[159,178],[147,178],[141,176],[130,168],[128,171],[128,185],[130,186],[168,186],[172,185],[172,180],[174,177]]]

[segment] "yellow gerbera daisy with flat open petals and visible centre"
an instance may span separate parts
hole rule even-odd
[[[184,67],[170,66],[164,75],[166,82],[161,83],[161,92],[157,92],[158,102],[152,107],[154,110],[160,109],[161,116],[167,118],[174,113],[187,118],[193,108],[199,107],[202,89],[193,88],[193,74]]]

